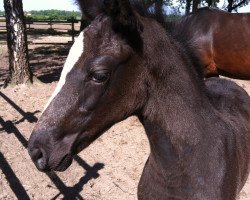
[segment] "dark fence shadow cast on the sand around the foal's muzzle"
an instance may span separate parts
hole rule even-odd
[[[5,121],[2,117],[0,117],[0,134],[14,134],[18,141],[27,148],[28,141],[22,135],[22,133],[16,127],[17,123],[21,123],[24,120],[27,120],[29,123],[35,123],[37,121],[36,113],[40,111],[24,112],[22,108],[20,108],[14,101],[12,101],[5,94],[0,92],[0,97],[3,98],[8,104],[10,104],[18,113],[20,113],[23,118],[18,120],[18,122],[13,123],[12,121]],[[73,186],[68,187],[64,184],[64,182],[60,179],[60,177],[54,173],[47,173],[47,176],[54,183],[54,185],[58,189],[58,194],[51,199],[57,199],[61,194],[63,195],[63,199],[84,199],[80,192],[83,190],[83,187],[86,183],[88,183],[91,179],[96,179],[100,175],[98,171],[104,168],[103,163],[95,163],[94,166],[88,165],[81,157],[75,156],[75,161],[81,166],[86,172],[83,177]],[[31,161],[31,160],[30,160]],[[8,163],[4,155],[0,152],[0,168],[4,173],[6,180],[9,183],[10,188],[14,192],[17,199],[31,199],[27,194],[24,186],[20,182],[19,178],[16,176],[15,172],[11,168],[11,165]]]

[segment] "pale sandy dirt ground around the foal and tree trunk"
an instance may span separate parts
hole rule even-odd
[[[62,173],[39,172],[27,153],[27,141],[59,79],[70,44],[66,37],[34,37],[31,67],[41,81],[0,89],[0,199],[135,200],[149,153],[138,119],[131,117],[108,130]],[[46,44],[62,41],[65,45]],[[44,44],[41,44],[44,43]],[[0,38],[0,86],[8,74],[8,54]],[[250,81],[237,81],[250,94]],[[250,199],[250,181],[239,197]]]

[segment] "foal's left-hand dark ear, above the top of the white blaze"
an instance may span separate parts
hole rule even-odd
[[[76,0],[82,13],[90,20],[104,12],[103,0]]]

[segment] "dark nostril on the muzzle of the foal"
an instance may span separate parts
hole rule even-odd
[[[47,167],[47,156],[43,149],[34,149],[30,152],[30,156],[35,163],[37,169],[44,171]]]

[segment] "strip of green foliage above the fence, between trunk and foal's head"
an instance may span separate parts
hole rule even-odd
[[[28,15],[27,14],[31,14]],[[26,12],[27,19],[30,20],[68,20],[71,18],[81,19],[81,13],[75,11],[65,11],[65,10],[32,10]]]

